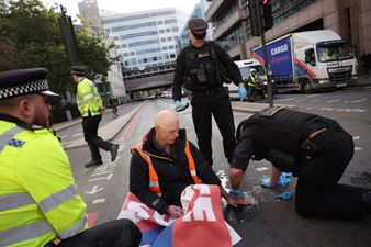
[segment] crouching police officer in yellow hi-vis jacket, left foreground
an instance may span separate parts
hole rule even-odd
[[[86,204],[53,130],[45,68],[0,72],[0,246],[133,247],[130,220],[88,227]]]

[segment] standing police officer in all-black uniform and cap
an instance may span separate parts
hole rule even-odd
[[[210,166],[212,159],[212,115],[223,136],[224,155],[232,161],[236,145],[235,125],[226,80],[243,81],[238,67],[216,43],[206,42],[207,23],[199,18],[188,22],[190,45],[178,55],[172,86],[176,106],[180,105],[181,86],[193,92],[192,119],[200,151]]]

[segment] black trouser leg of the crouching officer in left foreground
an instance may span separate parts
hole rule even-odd
[[[64,239],[58,247],[136,247],[140,239],[139,228],[132,221],[122,218]]]

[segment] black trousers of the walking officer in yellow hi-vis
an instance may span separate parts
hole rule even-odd
[[[101,120],[102,115],[82,117],[83,137],[89,145],[92,160],[100,160],[102,158],[99,148],[109,151],[112,146],[110,142],[98,136],[98,127]]]

